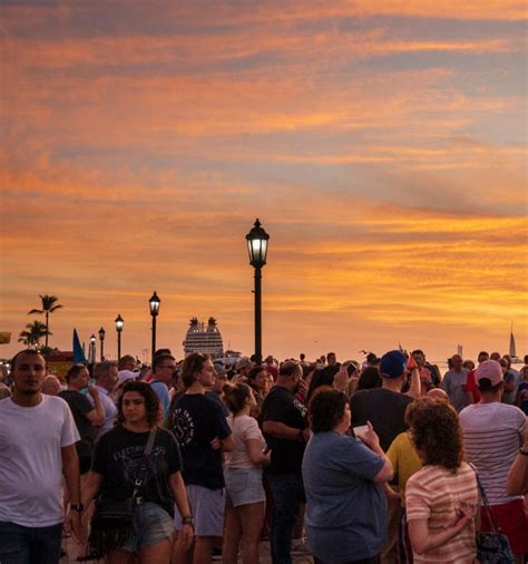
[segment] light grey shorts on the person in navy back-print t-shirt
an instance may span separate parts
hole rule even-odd
[[[222,536],[224,534],[225,490],[209,489],[196,484],[187,487],[187,498],[194,517],[196,536]],[[178,508],[174,515],[174,527],[182,528]]]

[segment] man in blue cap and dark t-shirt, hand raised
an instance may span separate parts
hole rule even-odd
[[[350,400],[352,426],[358,427],[370,421],[385,453],[395,437],[407,429],[407,406],[412,403],[414,397],[420,397],[420,373],[415,364],[411,372],[412,392],[407,395],[400,391],[407,378],[407,366],[408,359],[403,352],[387,352],[380,360],[381,388],[356,391]],[[401,514],[399,502],[388,502],[388,536],[381,555],[382,563],[395,562],[394,550]]]

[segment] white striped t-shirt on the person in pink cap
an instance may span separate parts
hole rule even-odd
[[[473,464],[490,505],[506,504],[508,471],[525,436],[526,416],[515,406],[475,403],[460,412],[466,460]]]

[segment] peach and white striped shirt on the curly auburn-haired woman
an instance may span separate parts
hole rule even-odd
[[[405,489],[407,521],[427,519],[431,534],[449,528],[462,505],[478,504],[475,471],[462,463],[453,474],[442,466],[424,466],[409,478]],[[475,521],[441,546],[417,554],[414,564],[470,564],[477,556]]]

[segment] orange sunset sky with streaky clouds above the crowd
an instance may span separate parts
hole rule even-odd
[[[0,4],[0,330],[253,352],[528,353],[522,1]],[[43,319],[42,319],[43,321]],[[144,352],[145,351],[145,352]]]

